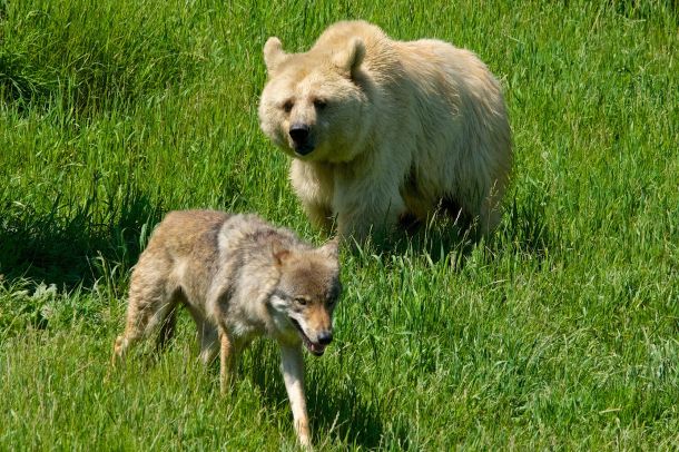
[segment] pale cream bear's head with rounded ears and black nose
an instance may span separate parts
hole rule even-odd
[[[358,38],[304,53],[286,53],[278,38],[269,38],[264,46],[268,81],[259,102],[262,130],[292,157],[351,161],[371,120],[361,70],[364,55]]]

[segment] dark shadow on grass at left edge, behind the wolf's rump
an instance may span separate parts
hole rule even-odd
[[[110,266],[121,271],[137,261],[159,206],[141,194],[126,196],[106,214],[97,199],[70,206],[59,197],[47,213],[30,206],[1,206],[0,274],[6,281],[32,279],[72,289],[91,285]]]

